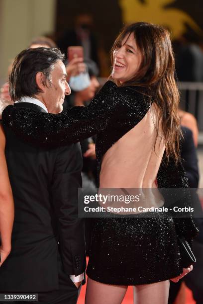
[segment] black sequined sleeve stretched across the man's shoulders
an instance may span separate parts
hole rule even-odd
[[[117,86],[107,81],[87,107],[77,106],[55,115],[10,105],[2,113],[2,122],[30,144],[59,147],[102,131],[121,103]]]

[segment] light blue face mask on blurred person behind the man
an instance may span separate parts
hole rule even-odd
[[[74,91],[82,91],[90,86],[90,76],[87,72],[81,73],[77,76],[71,76],[69,85]]]

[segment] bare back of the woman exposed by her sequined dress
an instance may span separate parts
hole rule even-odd
[[[104,154],[101,188],[156,188],[155,180],[165,150],[161,122],[156,141],[157,128],[158,110],[154,103],[144,118]]]

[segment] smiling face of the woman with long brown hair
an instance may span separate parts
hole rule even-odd
[[[121,45],[113,51],[113,79],[125,82],[136,75],[139,70],[142,55],[135,43],[134,34],[124,38]]]

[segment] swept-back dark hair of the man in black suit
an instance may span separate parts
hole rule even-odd
[[[36,74],[44,74],[44,85],[51,85],[50,74],[58,60],[64,60],[64,55],[56,48],[26,49],[15,57],[12,71],[9,75],[9,94],[12,101],[21,97],[34,97],[41,92],[36,83]]]

